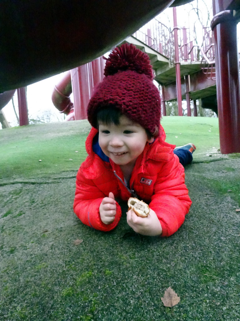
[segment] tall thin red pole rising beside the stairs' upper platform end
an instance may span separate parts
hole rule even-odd
[[[182,116],[182,89],[181,89],[181,74],[180,74],[180,61],[179,61],[179,47],[178,47],[177,10],[176,10],[176,7],[173,7],[172,9],[173,9],[173,24],[174,24],[173,30],[174,30],[178,116]]]

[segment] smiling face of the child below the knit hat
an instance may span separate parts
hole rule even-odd
[[[104,154],[118,165],[134,165],[146,143],[153,140],[148,139],[142,126],[124,115],[119,118],[119,125],[99,122],[99,145]]]

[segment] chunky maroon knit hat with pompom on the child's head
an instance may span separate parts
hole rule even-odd
[[[153,72],[147,54],[132,44],[115,48],[108,58],[104,79],[97,86],[87,108],[88,121],[97,127],[96,110],[114,105],[132,121],[159,132],[161,99],[153,83]]]

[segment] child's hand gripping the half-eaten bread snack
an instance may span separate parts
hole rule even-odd
[[[156,236],[162,234],[162,226],[156,213],[150,209],[148,217],[137,216],[132,210],[127,212],[127,223],[131,228],[142,235]]]

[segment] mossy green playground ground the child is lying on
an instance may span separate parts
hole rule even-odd
[[[240,320],[240,155],[218,151],[216,118],[162,125],[167,142],[197,146],[185,169],[193,204],[170,238],[134,234],[124,215],[109,233],[77,219],[86,121],[0,131],[0,320]],[[173,308],[161,301],[169,286]]]

